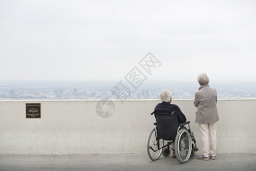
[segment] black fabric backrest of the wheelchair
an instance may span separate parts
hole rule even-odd
[[[155,111],[157,137],[164,140],[175,140],[178,119],[175,112]]]

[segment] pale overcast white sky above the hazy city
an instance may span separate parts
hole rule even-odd
[[[151,80],[256,81],[255,9],[244,0],[0,0],[0,80],[123,79],[151,52],[161,62]]]

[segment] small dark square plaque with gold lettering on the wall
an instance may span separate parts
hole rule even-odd
[[[26,118],[41,118],[41,104],[26,103]]]

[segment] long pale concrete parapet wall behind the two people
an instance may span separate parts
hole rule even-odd
[[[26,103],[41,103],[41,119],[26,119]],[[113,100],[102,118],[96,100],[1,100],[0,154],[147,153],[158,100]],[[173,100],[187,119],[201,152],[193,99]],[[256,153],[256,99],[218,100],[218,153]],[[104,110],[105,108],[103,108]]]

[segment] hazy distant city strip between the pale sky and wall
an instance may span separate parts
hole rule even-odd
[[[145,81],[137,89],[120,80],[108,82],[0,82],[0,99],[159,99],[162,89],[172,91],[173,99],[194,98],[196,82]],[[119,85],[119,86],[118,86]],[[255,84],[213,83],[218,98],[256,97]],[[129,91],[128,91],[129,90]]]

